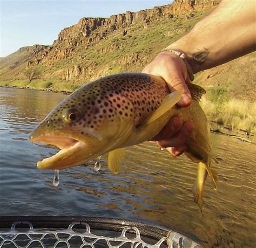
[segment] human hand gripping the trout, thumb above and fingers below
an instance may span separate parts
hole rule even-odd
[[[186,82],[190,82],[186,65],[172,52],[159,53],[142,72],[162,77],[171,92],[183,89],[183,96],[178,102],[180,107],[188,107],[191,104],[191,94],[186,85]],[[191,122],[183,123],[180,118],[174,117],[153,140],[157,141],[159,147],[166,148],[172,156],[176,157],[187,149],[186,141],[192,131],[193,124]]]

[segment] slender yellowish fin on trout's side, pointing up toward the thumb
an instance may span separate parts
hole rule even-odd
[[[183,94],[183,90],[179,89],[178,91],[174,91],[171,94],[167,95],[163,102],[161,102],[161,105],[154,111],[152,114],[150,114],[145,120],[143,120],[141,123],[139,123],[138,128],[144,128],[144,126],[149,125],[153,121],[157,120],[165,114],[167,111],[169,111],[174,105],[177,104],[177,102],[180,100],[181,96]]]

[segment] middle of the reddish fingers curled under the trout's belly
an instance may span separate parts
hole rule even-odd
[[[183,146],[190,138],[192,132],[193,124],[191,122],[185,122],[176,134],[165,136],[164,139],[157,141],[157,144],[163,148]]]

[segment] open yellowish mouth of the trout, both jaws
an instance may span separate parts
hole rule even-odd
[[[30,141],[32,143],[51,144],[60,149],[55,155],[38,161],[37,168],[39,169],[65,169],[77,166],[85,160],[83,151],[86,150],[86,143],[74,137],[56,135],[33,137],[31,135]]]

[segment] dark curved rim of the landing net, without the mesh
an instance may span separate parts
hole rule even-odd
[[[75,223],[75,224],[74,224]],[[33,228],[48,229],[70,229],[75,225],[77,229],[84,229],[89,225],[90,229],[123,232],[126,229],[128,233],[136,233],[139,230],[140,235],[151,239],[165,239],[172,235],[180,236],[179,241],[183,239],[190,240],[193,246],[201,247],[200,241],[187,237],[179,232],[167,230],[159,226],[153,226],[141,221],[134,221],[121,218],[109,217],[92,217],[92,216],[0,216],[0,233],[1,229],[9,229],[10,232],[16,228],[26,228],[31,231]],[[181,238],[181,239],[180,239]],[[168,246],[172,247],[172,246]],[[183,247],[182,245],[180,247]]]

